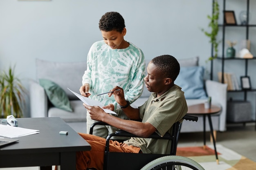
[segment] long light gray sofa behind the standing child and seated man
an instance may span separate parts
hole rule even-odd
[[[183,67],[198,66],[198,57],[179,60]],[[146,64],[148,61],[146,61]],[[68,124],[72,124],[75,130],[84,129],[86,121],[86,110],[82,102],[72,94],[67,88],[79,93],[79,88],[82,85],[82,76],[87,68],[86,62],[49,62],[44,60],[36,60],[36,80],[30,83],[30,110],[31,117],[61,117]],[[40,79],[47,79],[61,88],[69,100],[72,111],[63,110],[53,106],[49,102],[49,94],[46,93],[45,87],[39,84]],[[203,83],[202,83],[203,84]],[[222,111],[218,115],[213,116],[214,130],[226,130],[226,102],[227,102],[227,86],[218,82],[207,80],[205,82],[206,91],[212,97],[213,104],[221,106]],[[49,89],[48,89],[49,90]],[[55,92],[55,90],[54,90]],[[186,93],[185,93],[186,94]],[[141,106],[150,95],[145,88],[143,94],[137,99],[132,106]],[[56,96],[54,94],[54,96]],[[62,98],[60,99],[63,100]],[[204,99],[186,99],[187,104],[198,104],[206,101]],[[207,128],[209,126],[207,125]],[[209,130],[209,129],[207,129]],[[85,130],[83,130],[85,131]],[[202,118],[199,118],[198,123],[184,121],[182,132],[198,132],[202,131]],[[81,131],[80,131],[81,132]]]

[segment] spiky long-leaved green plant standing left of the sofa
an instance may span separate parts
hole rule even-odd
[[[14,68],[10,66],[8,72],[3,71],[0,74],[0,117],[3,118],[8,115],[22,117],[25,107],[27,92],[20,79],[14,75]]]

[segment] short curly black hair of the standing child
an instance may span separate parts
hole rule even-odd
[[[124,28],[124,18],[118,12],[107,12],[99,20],[99,29],[101,31],[116,30],[121,33]]]

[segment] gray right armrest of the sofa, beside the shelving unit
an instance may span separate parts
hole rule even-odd
[[[226,130],[226,114],[227,114],[227,84],[222,84],[213,80],[205,81],[207,95],[211,97],[213,104],[221,106],[219,117],[219,130]]]

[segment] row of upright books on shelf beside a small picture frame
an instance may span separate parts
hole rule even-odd
[[[218,80],[222,82],[222,72],[218,72]],[[223,83],[227,84],[228,91],[239,90],[238,81],[234,73],[223,73]]]

